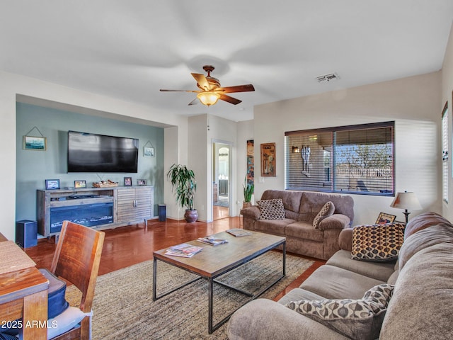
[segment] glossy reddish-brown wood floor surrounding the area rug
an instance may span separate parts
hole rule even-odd
[[[185,223],[176,220],[158,222],[149,220],[148,226],[144,223],[128,225],[116,229],[106,229],[105,241],[99,267],[99,275],[117,271],[133,264],[151,260],[153,251],[203,237],[226,229],[242,227],[241,217],[227,217],[228,208],[214,207],[213,222]],[[55,241],[39,239],[38,246],[25,249],[25,252],[35,261],[38,268],[49,268],[55,251]],[[304,259],[311,259],[300,256]],[[289,290],[297,288],[316,268],[326,261],[314,260],[314,264],[297,280],[288,285],[275,300],[280,299]]]

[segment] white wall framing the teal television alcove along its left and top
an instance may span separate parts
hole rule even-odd
[[[2,195],[0,198],[1,224],[0,232],[8,239],[14,239],[16,226],[16,95],[42,98],[47,101],[67,103],[91,110],[104,111],[142,121],[154,121],[167,125],[180,126],[178,129],[178,145],[187,145],[187,118],[159,112],[153,108],[139,106],[134,103],[119,101],[91,94],[85,91],[70,89],[65,86],[51,84],[46,81],[23,77],[18,74],[0,72],[0,142],[1,159],[4,166],[0,167]],[[45,123],[45,122],[44,122]],[[184,150],[184,147],[182,148]],[[166,152],[168,150],[166,149]],[[165,157],[167,159],[167,157]],[[165,186],[167,182],[165,182]],[[169,201],[169,200],[168,200]]]

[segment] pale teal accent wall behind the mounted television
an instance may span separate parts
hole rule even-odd
[[[68,130],[138,138],[138,173],[68,174]],[[28,133],[39,137],[40,132],[47,138],[47,150],[24,150],[23,136]],[[137,179],[146,179],[154,186],[157,216],[157,204],[164,202],[163,128],[16,103],[16,136],[16,220],[36,220],[36,190],[45,189],[46,179],[59,179],[61,188],[73,187],[74,181],[79,180],[86,181],[87,188],[91,188],[93,182],[101,179],[119,182],[120,186],[124,185],[124,177],[132,177],[134,186]],[[154,147],[154,157],[144,157],[144,145]]]

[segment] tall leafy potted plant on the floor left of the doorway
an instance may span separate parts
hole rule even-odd
[[[176,190],[176,202],[185,209],[185,220],[195,222],[198,219],[198,212],[193,208],[193,196],[197,190],[195,174],[185,165],[173,164],[168,170],[167,179],[171,183],[171,190]]]

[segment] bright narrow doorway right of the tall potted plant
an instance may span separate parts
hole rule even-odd
[[[231,207],[231,145],[212,143],[212,220],[229,217]]]

